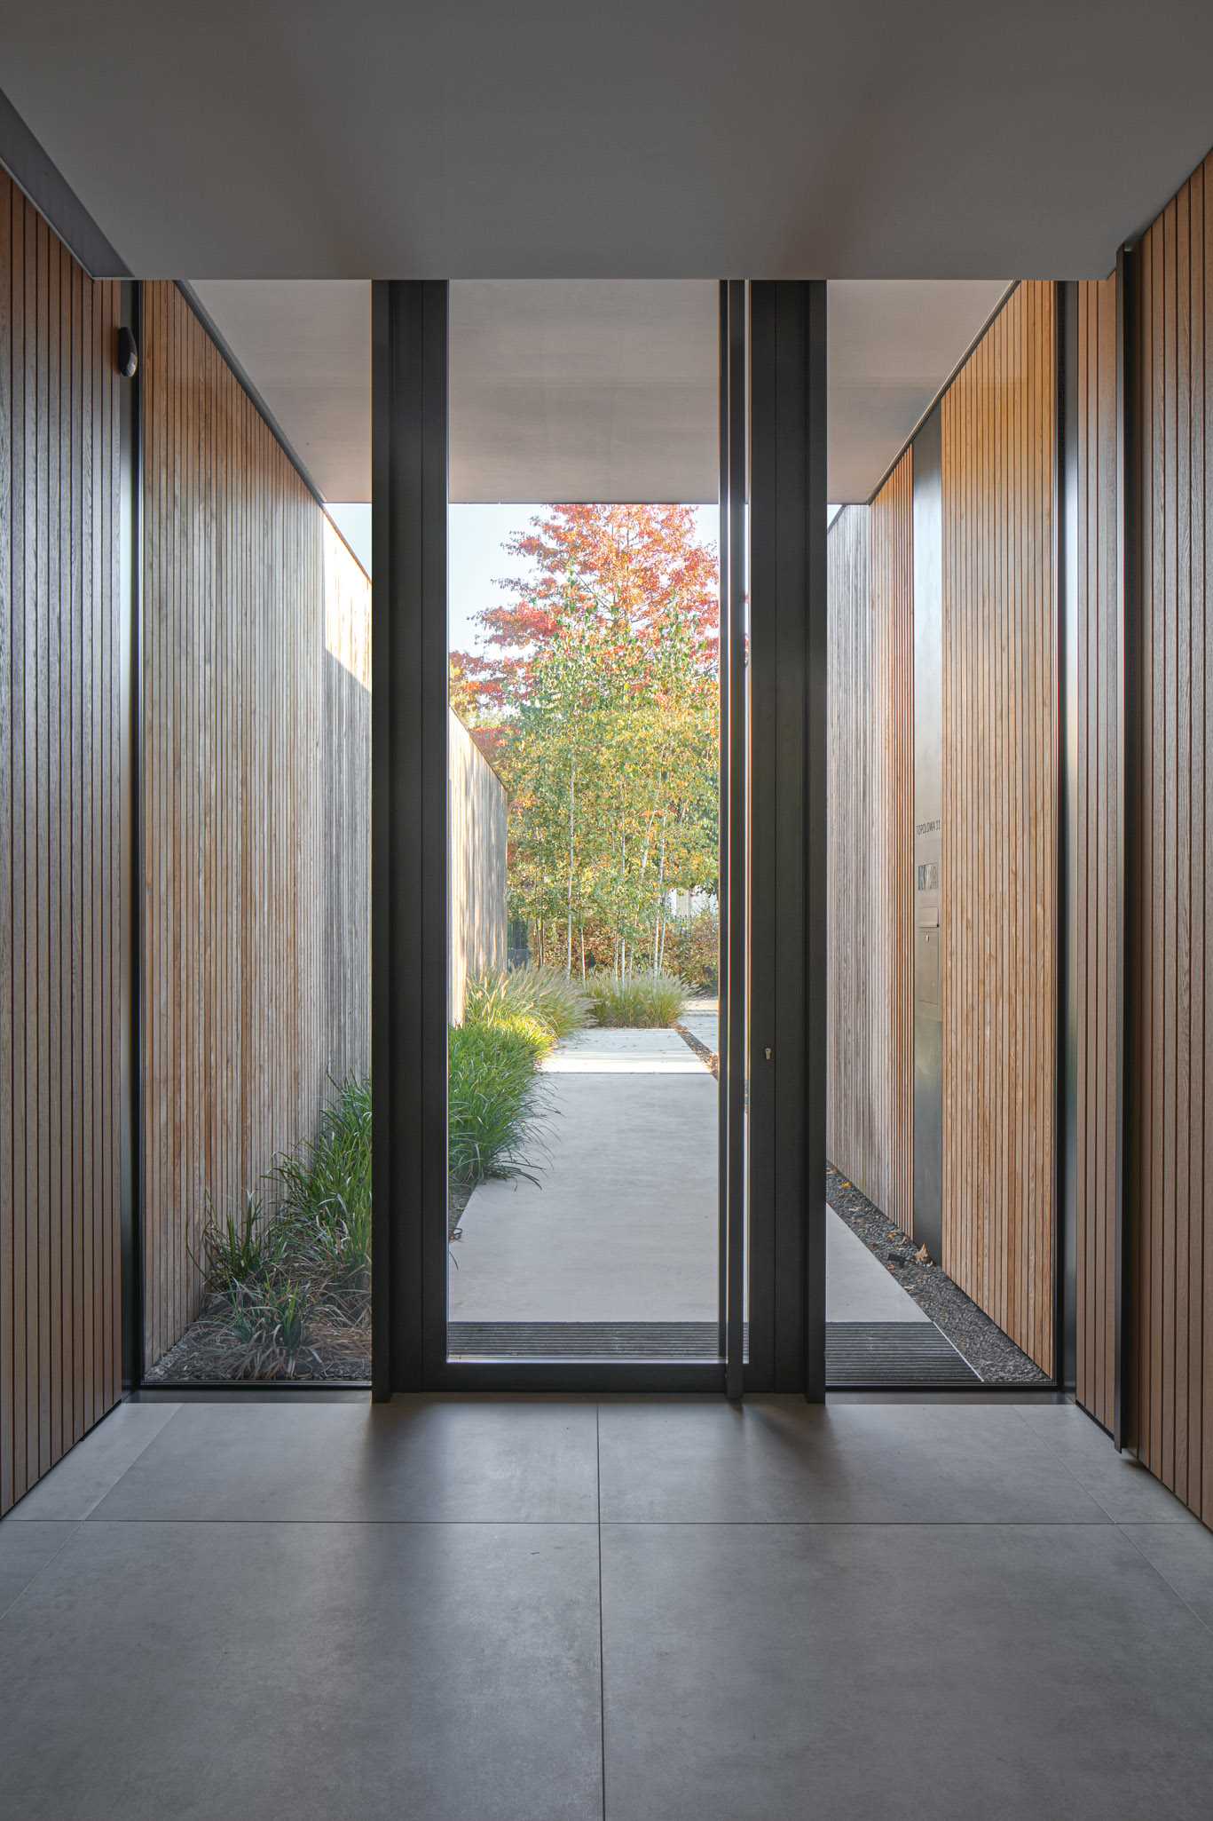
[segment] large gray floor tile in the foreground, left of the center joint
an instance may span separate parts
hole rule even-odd
[[[0,1621],[0,1812],[589,1821],[596,1588],[580,1524],[82,1524]]]

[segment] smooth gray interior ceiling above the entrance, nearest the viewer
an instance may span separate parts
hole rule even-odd
[[[7,7],[144,277],[1084,277],[1213,138],[1208,0]]]

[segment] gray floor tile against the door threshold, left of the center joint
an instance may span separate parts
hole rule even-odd
[[[453,1397],[184,1404],[95,1515],[593,1522],[595,1408]]]

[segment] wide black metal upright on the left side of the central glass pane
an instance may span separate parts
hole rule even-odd
[[[446,1360],[447,286],[371,295],[371,1377],[386,1399]]]

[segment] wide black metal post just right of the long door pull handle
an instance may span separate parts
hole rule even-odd
[[[751,284],[753,1231],[773,1382],[826,1395],[826,286]],[[758,1155],[762,1144],[762,1155]],[[755,1293],[760,1260],[753,1260]]]

